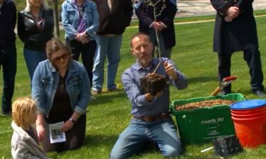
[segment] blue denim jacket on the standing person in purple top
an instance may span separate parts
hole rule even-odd
[[[94,40],[96,29],[99,26],[99,15],[96,4],[93,1],[84,0],[83,18],[85,20],[86,32],[89,40]],[[62,4],[62,25],[65,28],[65,38],[74,40],[79,25],[79,9],[72,0],[66,0]]]

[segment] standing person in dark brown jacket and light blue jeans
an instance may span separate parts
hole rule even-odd
[[[116,90],[116,73],[120,61],[122,34],[131,23],[131,0],[92,0],[99,13],[99,45],[94,61],[92,94],[101,93],[104,84],[104,61],[107,56],[107,90]]]

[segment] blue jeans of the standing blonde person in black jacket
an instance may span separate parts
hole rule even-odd
[[[24,49],[23,55],[27,64],[28,73],[30,74],[31,81],[33,80],[33,73],[38,66],[40,61],[43,61],[46,58],[45,52],[37,52],[31,49]]]

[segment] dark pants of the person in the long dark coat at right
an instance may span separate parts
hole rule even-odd
[[[243,51],[244,59],[250,68],[250,85],[253,92],[255,90],[264,90],[262,64],[260,61],[260,51],[257,47],[246,49]],[[231,75],[231,53],[218,53],[218,80],[221,82],[223,78]],[[231,93],[231,84],[224,88],[226,93]]]

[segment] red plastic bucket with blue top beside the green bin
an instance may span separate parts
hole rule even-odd
[[[231,105],[235,134],[243,147],[266,143],[266,100],[245,100]]]

